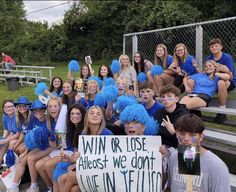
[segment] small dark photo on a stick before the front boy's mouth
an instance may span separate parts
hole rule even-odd
[[[200,152],[196,145],[178,146],[179,173],[200,175]]]

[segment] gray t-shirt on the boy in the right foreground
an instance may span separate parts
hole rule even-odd
[[[200,156],[200,166],[200,176],[193,176],[193,192],[231,192],[229,170],[218,156],[205,151]],[[168,172],[171,192],[186,191],[186,177],[178,173],[178,152],[170,156]]]

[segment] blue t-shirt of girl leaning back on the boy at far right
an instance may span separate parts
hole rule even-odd
[[[209,79],[206,73],[198,73],[192,75],[190,79],[195,81],[195,86],[192,93],[204,93],[212,97],[217,90],[217,82],[219,77],[214,77],[214,79]]]

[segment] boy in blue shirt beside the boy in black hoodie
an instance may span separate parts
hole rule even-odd
[[[154,116],[156,112],[164,108],[164,106],[153,99],[154,89],[153,83],[150,81],[144,81],[139,85],[139,93],[143,102],[145,109],[148,112],[148,115]]]

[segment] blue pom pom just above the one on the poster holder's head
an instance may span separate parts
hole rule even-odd
[[[123,111],[127,106],[129,105],[133,105],[133,104],[136,104],[137,101],[135,99],[135,97],[129,97],[129,96],[119,96],[116,100],[116,103],[115,103],[115,108],[121,112]]]

